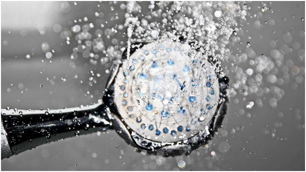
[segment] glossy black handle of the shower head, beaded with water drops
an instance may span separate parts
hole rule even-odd
[[[1,109],[1,159],[111,125],[103,103],[69,109]]]

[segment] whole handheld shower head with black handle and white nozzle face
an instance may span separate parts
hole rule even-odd
[[[112,128],[138,150],[188,153],[213,137],[227,110],[229,78],[212,62],[184,39],[131,44],[122,61],[113,63],[96,105],[1,109],[1,133],[6,133],[1,158],[46,141]]]

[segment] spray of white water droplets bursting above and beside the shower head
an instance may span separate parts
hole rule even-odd
[[[120,8],[127,12],[124,15],[125,23],[114,26],[114,29],[104,29],[102,27],[105,30],[104,32],[98,31],[99,29],[95,29],[95,27],[91,28],[98,33],[96,41],[91,41],[93,38],[89,36],[87,36],[87,39],[81,40],[86,40],[88,45],[85,46],[88,47],[76,47],[73,57],[79,53],[78,51],[81,53],[85,51],[83,57],[90,57],[91,63],[97,64],[96,62],[100,61],[101,64],[106,64],[114,60],[120,60],[121,52],[125,50],[126,43],[129,53],[130,46],[135,42],[151,41],[165,37],[175,38],[176,36],[183,36],[190,42],[195,40],[192,48],[200,48],[206,57],[212,56],[212,61],[220,66],[218,72],[230,76],[229,96],[234,104],[243,104],[245,107],[239,109],[237,114],[246,114],[250,118],[250,109],[264,106],[270,106],[272,109],[277,108],[278,102],[286,94],[284,88],[297,89],[298,85],[304,81],[305,49],[300,46],[300,43],[293,43],[292,32],[284,33],[282,39],[285,43],[281,43],[281,45],[277,41],[271,40],[268,45],[271,50],[269,54],[265,55],[253,49],[251,37],[248,38],[249,40],[246,43],[242,42],[242,38],[247,33],[244,25],[251,25],[258,31],[265,24],[275,25],[273,19],[265,21],[263,17],[273,15],[273,9],[269,7],[270,5],[271,3],[262,2],[258,9],[255,9],[255,11],[252,9],[253,11],[250,13],[251,8],[246,2],[150,2],[147,6],[150,12],[142,15],[143,4],[128,2],[120,5]],[[286,18],[283,21],[286,21]],[[301,19],[301,21],[304,20]],[[87,28],[90,28],[89,25],[85,27],[83,35],[88,34],[86,33]],[[106,33],[105,36],[107,37],[115,36],[118,34],[115,31],[124,29],[128,30],[128,41],[123,44],[117,41],[115,46],[105,45],[102,38],[99,38],[103,33]],[[275,31],[272,31],[272,33],[275,33]],[[305,31],[298,31],[297,35],[299,38],[304,38]],[[262,38],[263,36],[259,37]],[[80,44],[82,43],[80,42]],[[99,46],[95,47],[94,45],[97,44]],[[244,44],[245,48],[234,49]],[[96,51],[93,51],[92,48]],[[302,64],[284,58],[285,55],[294,50],[298,52],[297,60]],[[100,52],[103,53],[102,56],[99,54]],[[128,62],[130,62],[130,54],[127,57]],[[194,58],[194,60],[196,59]],[[140,88],[136,90],[136,93],[138,91],[141,93]],[[145,102],[148,102],[148,100],[145,100]],[[236,133],[239,129],[242,128],[239,126],[232,132]],[[228,131],[223,130],[221,134],[226,136]],[[273,138],[274,136],[273,134]],[[217,156],[218,154],[215,155],[215,157]]]

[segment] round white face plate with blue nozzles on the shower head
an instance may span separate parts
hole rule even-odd
[[[219,104],[215,66],[190,45],[155,41],[120,65],[114,102],[124,123],[155,142],[187,142],[208,125]]]

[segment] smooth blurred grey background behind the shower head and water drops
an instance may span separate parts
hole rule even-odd
[[[119,19],[105,24],[104,29],[123,24],[125,11],[120,9],[121,3],[124,2],[1,2],[1,108],[58,109],[97,102],[104,91],[105,70],[109,64],[98,62],[93,65],[82,57],[71,60],[72,48],[77,43],[72,39],[67,45],[60,32],[70,30],[75,19],[85,16],[88,23],[95,24],[95,12],[103,12],[104,20],[118,14]],[[141,5],[145,14],[148,2]],[[258,7],[262,7],[261,2],[249,5],[252,7],[250,11],[255,13],[259,11]],[[304,36],[300,33],[305,32],[305,21],[302,20],[305,2],[272,2],[269,6],[273,8],[273,14],[261,19],[263,28],[255,29],[256,19],[248,19],[249,24],[243,26],[245,36],[241,41],[244,44],[250,41],[257,55],[269,56],[270,41],[277,40],[277,46],[284,44],[283,35],[289,31],[292,40],[287,45],[298,42],[300,49],[304,50],[304,61],[297,60],[301,54],[295,49],[284,58],[304,66],[302,77],[305,78],[305,33]],[[111,11],[110,7],[115,7],[115,10]],[[264,23],[270,19],[273,19],[273,25]],[[110,44],[110,40],[103,39]],[[125,41],[120,35],[118,39]],[[55,50],[51,59],[45,57],[42,43],[48,43],[50,51]],[[235,52],[237,48],[244,51],[245,47],[237,45],[232,49]],[[31,55],[30,59],[25,58],[27,54]],[[89,84],[91,71],[101,74],[97,83],[92,85]],[[230,79],[232,77],[229,75]],[[246,103],[255,102],[256,96],[247,96],[247,100],[241,95],[235,96],[233,99],[238,99],[239,103],[233,99],[230,101],[224,127],[210,141],[209,148],[202,147],[190,156],[164,158],[137,153],[134,147],[110,131],[38,146],[1,160],[1,170],[305,171],[305,80],[297,85],[284,84],[281,88],[285,95],[276,109],[268,105],[268,96],[262,97],[262,108],[255,104],[253,109],[246,109]],[[239,111],[241,109],[244,113]],[[272,136],[272,133],[276,135]],[[227,151],[219,148],[224,142],[229,143]],[[211,156],[211,151],[215,151],[216,156]],[[181,159],[186,162],[184,168],[178,168]]]

